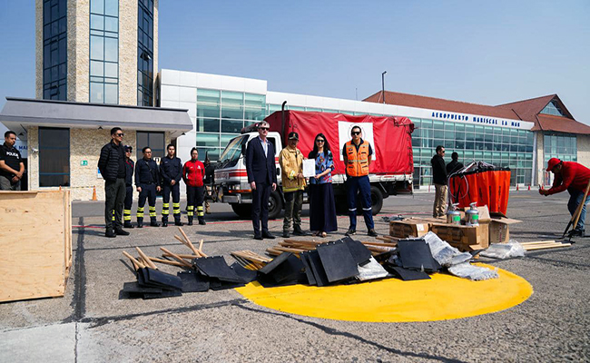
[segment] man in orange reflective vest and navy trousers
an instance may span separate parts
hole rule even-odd
[[[344,165],[346,165],[346,190],[349,202],[350,227],[347,236],[357,232],[357,193],[360,191],[362,214],[367,225],[367,234],[377,237],[373,214],[371,211],[371,194],[369,182],[369,165],[372,160],[373,149],[370,143],[362,140],[359,126],[350,130],[352,140],[346,142],[342,148]]]

